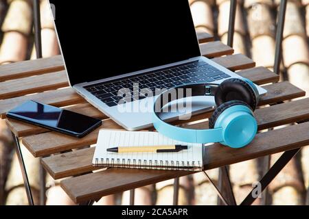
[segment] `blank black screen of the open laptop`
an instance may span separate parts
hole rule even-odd
[[[71,86],[201,55],[188,0],[51,0]]]

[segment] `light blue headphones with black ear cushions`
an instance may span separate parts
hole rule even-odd
[[[172,88],[176,90],[177,96],[179,88],[191,88],[192,96],[215,97],[217,107],[209,118],[209,129],[184,129],[161,120],[159,113],[164,107],[161,106],[163,96],[165,92],[170,91],[166,90],[157,97],[152,116],[153,125],[159,133],[181,142],[220,142],[232,148],[246,146],[253,140],[258,131],[253,111],[258,105],[259,93],[252,81],[233,78],[223,81],[220,85],[194,83],[178,86]]]

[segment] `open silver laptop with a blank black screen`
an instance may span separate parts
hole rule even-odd
[[[156,88],[240,77],[201,56],[187,0],[50,3],[70,86],[127,130],[152,127]],[[192,114],[214,108],[213,96],[194,98]]]

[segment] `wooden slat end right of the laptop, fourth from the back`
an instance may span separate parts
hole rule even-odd
[[[258,85],[279,81],[279,75],[262,66],[258,66],[256,68],[249,68],[246,70],[240,70],[236,73],[242,77],[246,77],[251,81],[254,81],[254,83]]]

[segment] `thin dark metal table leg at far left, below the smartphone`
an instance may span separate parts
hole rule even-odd
[[[23,183],[25,185],[28,203],[29,205],[34,205],[30,183],[29,183],[29,179],[27,176],[27,170],[25,169],[25,162],[23,161],[23,155],[21,153],[21,145],[19,144],[19,138],[16,137],[14,133],[12,133],[12,136],[13,136],[14,143],[15,143],[16,154],[19,159],[19,165],[21,166],[21,173],[23,174]]]

